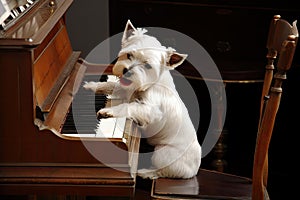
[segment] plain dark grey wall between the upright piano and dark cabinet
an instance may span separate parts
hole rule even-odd
[[[73,49],[86,57],[109,36],[108,0],[74,0],[66,20]]]

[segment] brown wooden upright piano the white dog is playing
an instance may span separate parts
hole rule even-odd
[[[96,110],[118,99],[88,94],[82,83],[114,78],[112,66],[87,63],[72,49],[65,22],[72,0],[0,3],[9,9],[0,21],[0,197],[132,199],[140,131],[126,118],[97,120]]]

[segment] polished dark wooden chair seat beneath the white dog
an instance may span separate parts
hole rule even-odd
[[[200,169],[191,179],[153,180],[154,199],[251,199],[250,178]]]

